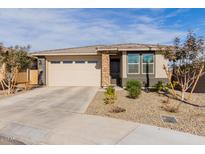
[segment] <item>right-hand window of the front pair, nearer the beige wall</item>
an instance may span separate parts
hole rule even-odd
[[[143,54],[142,73],[154,74],[154,54]]]

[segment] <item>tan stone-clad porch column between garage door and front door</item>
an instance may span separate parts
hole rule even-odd
[[[110,56],[108,52],[102,53],[102,71],[101,71],[101,86],[110,85]]]

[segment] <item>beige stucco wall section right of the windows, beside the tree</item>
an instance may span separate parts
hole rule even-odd
[[[155,77],[156,78],[167,78],[166,73],[163,69],[163,65],[168,65],[168,60],[161,54],[155,55]]]

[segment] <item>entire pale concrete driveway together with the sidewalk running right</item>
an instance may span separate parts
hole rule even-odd
[[[83,114],[95,87],[39,88],[0,100],[0,136],[25,144],[205,144],[205,138]]]

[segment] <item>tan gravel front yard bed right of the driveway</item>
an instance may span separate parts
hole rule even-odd
[[[162,108],[164,105],[163,101],[166,101],[167,97],[156,92],[142,92],[139,98],[130,99],[127,97],[127,91],[118,90],[117,100],[114,104],[105,104],[103,98],[104,92],[99,91],[89,105],[86,113],[130,120],[205,136],[205,107],[196,107],[181,103],[178,112],[167,112]],[[171,100],[171,103],[178,104],[180,102]],[[205,106],[205,94],[193,94],[191,103]],[[113,111],[116,108],[117,110],[125,109],[126,111],[122,110],[122,112],[115,113]],[[173,116],[176,118],[177,123],[163,122],[161,116]]]

